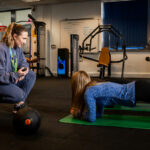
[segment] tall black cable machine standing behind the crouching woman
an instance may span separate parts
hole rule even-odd
[[[24,26],[26,28],[30,28],[28,29],[29,32],[29,37],[30,37],[30,41],[29,41],[29,52],[24,52],[25,55],[28,55],[28,57],[26,57],[27,62],[30,65],[31,69],[36,69],[36,74],[37,76],[41,76],[41,70],[44,70],[44,75],[45,75],[45,69],[49,72],[49,74],[53,77],[53,73],[51,72],[50,68],[48,68],[47,66],[45,66],[45,54],[44,54],[44,50],[45,50],[45,44],[42,41],[45,41],[45,26],[46,24],[44,22],[41,21],[37,21],[35,18],[33,18],[30,14],[28,14],[28,17],[32,20],[30,22],[28,21],[18,21],[17,23],[27,23],[28,24],[24,24]],[[34,52],[34,54],[32,54],[32,26],[31,23],[34,24],[34,34],[36,37],[36,51]],[[30,26],[28,26],[30,25]],[[41,57],[41,52],[42,52],[42,57]],[[34,57],[35,56],[35,57]],[[34,58],[33,58],[34,57]],[[34,65],[36,63],[36,66]]]

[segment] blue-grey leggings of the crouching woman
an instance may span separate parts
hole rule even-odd
[[[36,75],[29,70],[25,78],[17,84],[0,85],[0,102],[18,103],[25,101],[36,80]]]

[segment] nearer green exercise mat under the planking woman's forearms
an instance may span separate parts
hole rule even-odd
[[[95,122],[86,122],[72,118],[68,115],[59,120],[62,123],[94,125],[94,126],[112,126],[123,128],[150,129],[150,117],[130,116],[130,115],[108,115],[104,114],[102,118],[97,118]]]

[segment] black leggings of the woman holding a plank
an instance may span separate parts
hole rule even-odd
[[[135,100],[150,102],[150,80],[137,80],[135,82]]]

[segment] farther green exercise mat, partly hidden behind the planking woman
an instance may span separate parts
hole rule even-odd
[[[147,103],[137,103],[136,107],[126,107],[116,105],[113,108],[105,108],[105,110],[129,110],[129,111],[145,111],[150,112],[150,104]]]

